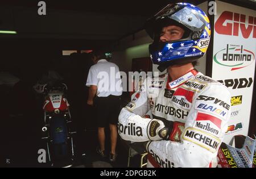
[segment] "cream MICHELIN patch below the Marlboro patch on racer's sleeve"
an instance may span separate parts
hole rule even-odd
[[[210,152],[216,152],[221,144],[220,139],[214,137],[213,135],[197,130],[196,128],[186,128],[183,133],[183,139],[191,141],[201,147],[208,149]]]

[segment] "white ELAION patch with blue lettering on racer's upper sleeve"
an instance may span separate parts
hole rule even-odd
[[[226,119],[228,117],[228,110],[215,105],[213,103],[197,101],[195,105],[196,110],[204,111],[205,113],[210,113],[216,115],[220,118]]]

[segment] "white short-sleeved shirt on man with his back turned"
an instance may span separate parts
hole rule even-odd
[[[89,70],[86,86],[97,86],[98,97],[122,95],[122,81],[119,68],[105,59],[98,60]]]

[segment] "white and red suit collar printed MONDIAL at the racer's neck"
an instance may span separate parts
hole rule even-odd
[[[174,89],[177,88],[180,85],[183,85],[184,82],[188,81],[190,78],[195,77],[196,74],[199,73],[195,68],[190,70],[188,73],[184,74],[180,78],[177,78],[177,80],[171,81],[171,77],[168,75],[168,81],[166,84],[167,89]]]

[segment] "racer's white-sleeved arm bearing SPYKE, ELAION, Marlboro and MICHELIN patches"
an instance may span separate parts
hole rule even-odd
[[[166,161],[175,167],[208,167],[227,130],[229,107],[228,89],[217,84],[208,86],[193,99],[181,141],[151,141],[148,152],[158,156],[157,161],[164,161],[159,164],[162,167]]]

